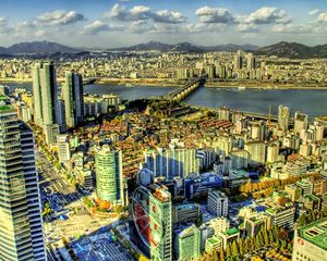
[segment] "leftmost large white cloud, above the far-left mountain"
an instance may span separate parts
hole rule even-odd
[[[36,25],[68,25],[85,20],[84,15],[76,11],[56,10],[40,14],[34,23]]]

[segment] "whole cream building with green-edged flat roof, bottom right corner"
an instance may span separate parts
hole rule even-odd
[[[327,217],[295,231],[292,261],[327,260]]]

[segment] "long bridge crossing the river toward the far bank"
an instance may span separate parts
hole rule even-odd
[[[172,92],[165,96],[166,99],[169,100],[175,100],[175,101],[182,101],[187,96],[190,96],[193,91],[195,91],[197,88],[204,86],[206,82],[207,75],[202,75],[195,79],[192,79],[190,83],[184,85],[183,87],[180,87]]]

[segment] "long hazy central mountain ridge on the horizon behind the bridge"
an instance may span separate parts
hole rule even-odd
[[[196,46],[190,42],[177,45],[162,44],[159,41],[148,41],[131,47],[113,48],[108,51],[181,51],[181,52],[206,52],[206,51],[256,51],[259,47],[253,45],[237,46],[232,44],[219,46]]]

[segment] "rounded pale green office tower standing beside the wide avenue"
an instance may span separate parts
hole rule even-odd
[[[96,148],[95,169],[98,198],[124,206],[121,151],[112,151],[108,145]]]

